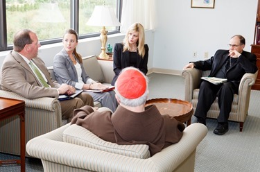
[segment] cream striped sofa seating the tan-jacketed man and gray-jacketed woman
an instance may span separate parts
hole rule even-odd
[[[83,65],[85,66],[87,74],[94,80],[98,80],[101,83],[111,83],[114,77],[112,61],[97,60],[95,55],[91,55],[83,58]],[[52,72],[51,67],[49,71],[50,73]],[[3,90],[0,90],[0,95],[1,97],[25,101],[26,143],[33,137],[43,135],[67,123],[67,120],[62,120],[60,102],[55,98],[44,97],[28,99],[14,92],[6,92]],[[96,105],[100,106],[98,103],[96,103]],[[19,155],[19,133],[19,117],[15,116],[0,121],[0,152]]]

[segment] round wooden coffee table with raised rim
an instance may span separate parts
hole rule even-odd
[[[182,123],[191,124],[191,115],[193,114],[192,104],[188,101],[182,101],[174,98],[153,98],[146,101],[146,106],[156,105],[161,114],[168,114]]]

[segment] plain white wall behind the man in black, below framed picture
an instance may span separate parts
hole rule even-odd
[[[245,37],[245,51],[254,38],[257,0],[215,0],[215,8],[191,8],[191,0],[157,1],[153,67],[182,70],[190,61],[205,60],[217,49],[228,49],[232,35]],[[197,51],[197,58],[193,58]]]

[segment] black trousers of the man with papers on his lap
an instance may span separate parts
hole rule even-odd
[[[198,94],[198,105],[194,113],[195,117],[206,119],[207,112],[218,96],[218,107],[220,113],[218,115],[219,123],[226,123],[231,112],[232,102],[234,98],[234,85],[232,83],[223,83],[214,85],[205,80],[200,84],[200,92]]]

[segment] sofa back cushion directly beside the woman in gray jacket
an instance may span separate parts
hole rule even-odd
[[[103,83],[105,81],[103,71],[98,64],[96,55],[83,58],[83,67],[85,68],[87,75],[93,80],[96,80],[100,83]]]

